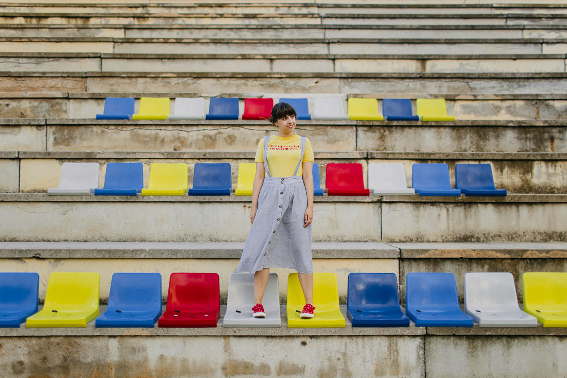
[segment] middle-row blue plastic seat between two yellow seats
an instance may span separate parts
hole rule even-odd
[[[189,196],[230,196],[230,163],[197,163]]]

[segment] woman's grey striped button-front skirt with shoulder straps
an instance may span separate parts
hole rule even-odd
[[[268,173],[258,197],[258,211],[248,233],[236,271],[255,273],[265,267],[286,267],[299,273],[313,273],[311,224],[303,227],[307,194],[301,176],[272,177],[268,169],[264,140],[264,167]],[[306,138],[301,138],[303,160]]]

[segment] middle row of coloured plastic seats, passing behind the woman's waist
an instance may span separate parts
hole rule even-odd
[[[362,164],[329,163],[325,186],[329,196],[506,196],[506,189],[496,189],[490,164],[456,164],[455,186],[451,188],[449,168],[445,163],[412,165],[412,186],[407,188],[403,163],[370,163],[369,189],[365,189]],[[232,188],[229,163],[196,163],[193,188],[189,189],[188,165],[153,163],[149,185],[143,188],[142,163],[108,163],[104,187],[99,189],[99,163],[63,163],[58,188],[48,188],[50,195],[95,196],[230,196]],[[251,196],[256,163],[240,163],[236,196]],[[323,196],[319,164],[313,164],[314,195]]]

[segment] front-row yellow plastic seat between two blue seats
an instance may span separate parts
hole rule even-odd
[[[43,309],[27,318],[28,328],[86,327],[99,316],[98,273],[56,272],[49,275]]]

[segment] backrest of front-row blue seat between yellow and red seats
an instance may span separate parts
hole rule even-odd
[[[108,308],[149,310],[162,304],[159,273],[115,273],[112,275]]]

